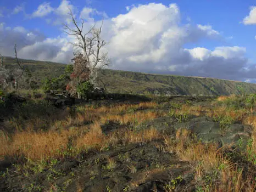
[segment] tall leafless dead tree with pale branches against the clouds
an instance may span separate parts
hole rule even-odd
[[[98,29],[94,23],[94,25],[85,32],[84,19],[81,19],[81,23],[79,24],[72,13],[72,10],[69,10],[69,15],[74,26],[71,27],[68,24],[64,24],[64,32],[70,36],[76,37],[77,42],[71,42],[71,44],[82,50],[82,53],[90,66],[90,82],[96,86],[98,69],[102,69],[110,64],[108,53],[102,52],[102,48],[107,44],[101,37],[103,21]]]

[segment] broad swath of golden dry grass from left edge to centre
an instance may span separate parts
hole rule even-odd
[[[109,144],[118,143],[120,138],[124,144],[150,142],[160,138],[160,134],[153,128],[141,132],[132,132],[127,129],[125,132],[117,131],[105,135],[102,133],[101,126],[109,121],[120,123],[120,125],[138,126],[144,121],[162,114],[151,111],[121,114],[129,109],[156,107],[157,104],[151,102],[137,105],[116,105],[112,108],[102,106],[94,109],[92,106],[85,106],[81,108],[84,111],[77,112],[75,117],[67,116],[65,120],[52,122],[51,129],[46,132],[37,131],[37,125],[44,123],[43,120],[39,118],[32,119],[26,122],[25,131],[17,131],[10,135],[0,134],[0,158],[3,159],[4,156],[25,156],[29,159],[40,160],[47,157],[61,157],[62,155],[58,150],[66,150],[69,142],[72,142],[74,149],[77,150],[84,148],[101,150]],[[91,124],[84,126],[84,123]],[[75,127],[72,127],[74,125]],[[71,128],[68,129],[69,127]],[[16,130],[19,130],[19,128]]]

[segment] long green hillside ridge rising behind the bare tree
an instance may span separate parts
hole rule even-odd
[[[21,60],[30,69],[37,81],[45,77],[57,77],[64,72],[65,64],[48,61]],[[15,64],[13,58],[6,58],[9,66]],[[171,95],[230,95],[256,92],[256,84],[219,80],[215,78],[185,77],[174,75],[153,75],[140,72],[104,69],[100,77],[110,93]],[[99,84],[102,85],[101,82]]]

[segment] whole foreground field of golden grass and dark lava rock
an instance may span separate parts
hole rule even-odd
[[[255,191],[256,95],[42,99],[1,121],[1,191]]]

